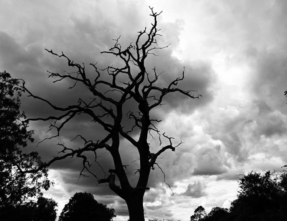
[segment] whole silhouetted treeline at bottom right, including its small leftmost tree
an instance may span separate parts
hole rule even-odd
[[[197,207],[191,221],[286,221],[287,220],[287,172],[265,174],[251,171],[241,175],[237,199],[230,209],[214,207],[206,214]]]

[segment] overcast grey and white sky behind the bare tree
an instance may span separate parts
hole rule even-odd
[[[113,38],[121,35],[123,46],[135,42],[137,32],[150,28],[150,9],[163,11],[158,17],[160,56],[147,61],[147,70],[164,72],[160,84],[168,84],[181,75],[181,88],[198,90],[202,98],[187,99],[172,94],[167,105],[153,115],[162,122],[158,128],[181,140],[175,152],[166,151],[158,163],[174,194],[164,183],[159,169],[151,171],[144,198],[148,218],[189,220],[201,205],[208,212],[214,206],[229,208],[236,198],[237,174],[248,171],[280,170],[287,162],[287,1],[285,0],[162,0],[162,1],[11,1],[0,0],[0,71],[26,81],[35,95],[54,104],[75,104],[90,94],[81,86],[67,89],[72,82],[52,83],[47,72],[63,73],[65,59],[52,56],[44,48],[62,51],[77,63],[97,62],[100,68],[119,64],[108,54]],[[94,77],[92,69],[90,76]],[[133,107],[132,107],[133,108]],[[28,117],[47,117],[54,113],[42,102],[22,98]],[[68,142],[79,133],[96,140],[99,127],[85,116],[77,117],[60,137],[38,141],[53,135],[45,133],[49,124],[31,123],[37,150],[45,161],[59,151],[56,144]],[[134,134],[136,136],[136,134]],[[151,149],[160,148],[152,141]],[[69,143],[81,146],[80,140]],[[122,141],[123,164],[135,183],[136,151]],[[128,153],[128,154],[126,154]],[[99,163],[113,168],[107,151],[99,154]],[[100,168],[94,165],[94,171]],[[44,196],[59,203],[60,213],[75,192],[90,192],[98,202],[116,210],[115,220],[127,220],[125,202],[105,184],[96,187],[96,179],[82,177],[81,161],[65,160],[51,165],[55,186]],[[103,173],[102,173],[103,175]],[[75,184],[76,183],[76,184]]]

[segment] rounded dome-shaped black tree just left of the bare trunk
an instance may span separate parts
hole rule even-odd
[[[65,205],[59,221],[97,220],[110,221],[116,215],[113,208],[98,203],[90,193],[75,193]]]

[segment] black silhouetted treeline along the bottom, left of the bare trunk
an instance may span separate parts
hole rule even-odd
[[[39,197],[23,204],[0,206],[0,220],[3,221],[55,221],[57,203],[53,199]],[[90,193],[75,193],[63,208],[59,221],[97,220],[112,221],[115,209],[98,203]]]

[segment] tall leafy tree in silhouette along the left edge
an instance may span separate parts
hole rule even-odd
[[[0,214],[48,188],[47,169],[43,168],[38,153],[22,153],[27,142],[33,142],[33,131],[28,123],[21,123],[25,113],[20,111],[20,96],[24,91],[19,80],[6,71],[0,72]],[[37,169],[34,173],[27,170]]]

